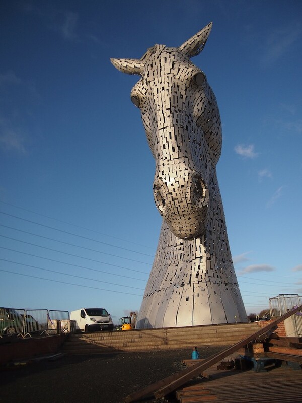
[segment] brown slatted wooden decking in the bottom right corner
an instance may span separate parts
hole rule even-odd
[[[207,379],[194,379],[176,392],[180,403],[301,403],[302,370],[288,366],[267,372],[235,369],[206,371]]]

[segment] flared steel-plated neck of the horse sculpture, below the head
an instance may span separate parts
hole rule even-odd
[[[215,203],[204,236],[183,240],[163,221],[136,328],[246,321],[215,177],[212,183]]]

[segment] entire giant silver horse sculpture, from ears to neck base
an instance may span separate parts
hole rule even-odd
[[[178,48],[155,45],[141,59],[111,59],[140,75],[131,91],[156,161],[163,224],[136,328],[247,320],[216,177],[221,122],[198,55],[212,23]]]

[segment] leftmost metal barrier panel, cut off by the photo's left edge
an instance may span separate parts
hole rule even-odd
[[[25,309],[0,308],[0,337],[23,333]]]

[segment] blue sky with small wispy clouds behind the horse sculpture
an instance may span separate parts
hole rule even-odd
[[[161,217],[154,160],[110,57],[180,46],[220,109],[217,165],[248,313],[302,295],[302,3],[9,1],[0,5],[0,305],[138,310]]]

